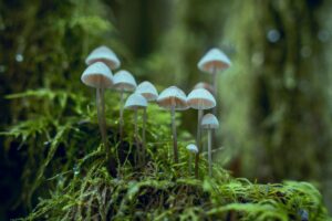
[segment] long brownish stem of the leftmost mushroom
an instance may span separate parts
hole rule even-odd
[[[106,158],[108,159],[110,150],[107,147],[107,136],[106,136],[104,88],[96,88],[96,106],[97,106],[97,118],[98,118],[100,130],[102,134],[102,140],[106,149]]]

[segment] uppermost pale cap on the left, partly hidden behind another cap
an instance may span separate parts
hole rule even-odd
[[[121,62],[116,54],[107,46],[102,45],[93,50],[86,57],[85,63],[91,65],[95,62],[104,62],[111,70],[120,67]]]

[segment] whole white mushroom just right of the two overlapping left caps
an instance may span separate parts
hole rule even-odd
[[[125,71],[121,70],[114,74],[113,77],[114,84],[113,88],[120,92],[120,140],[123,137],[123,103],[124,103],[124,93],[125,92],[134,92],[137,84],[134,76]]]

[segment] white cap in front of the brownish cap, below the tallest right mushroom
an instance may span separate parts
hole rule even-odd
[[[194,109],[210,109],[216,106],[216,99],[207,90],[197,88],[188,95],[187,104]]]

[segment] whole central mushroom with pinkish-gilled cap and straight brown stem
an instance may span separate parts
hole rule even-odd
[[[178,150],[177,150],[177,135],[176,135],[176,125],[175,125],[175,110],[184,110],[188,108],[186,102],[186,94],[176,86],[170,86],[164,90],[158,98],[157,103],[160,107],[170,110],[172,115],[172,130],[173,130],[173,151],[174,151],[174,161],[178,162]]]

